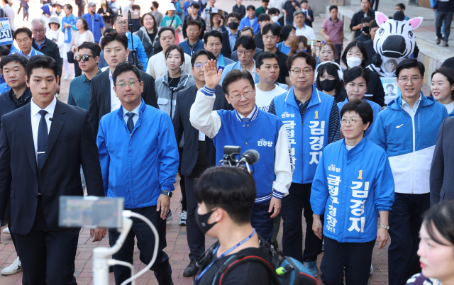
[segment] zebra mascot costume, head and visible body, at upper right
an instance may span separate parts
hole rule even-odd
[[[396,77],[396,67],[402,60],[409,58],[415,49],[414,30],[423,22],[423,17],[406,21],[402,11],[394,13],[389,19],[384,13],[375,12],[379,26],[374,38],[374,56],[367,68],[377,72],[380,77]]]

